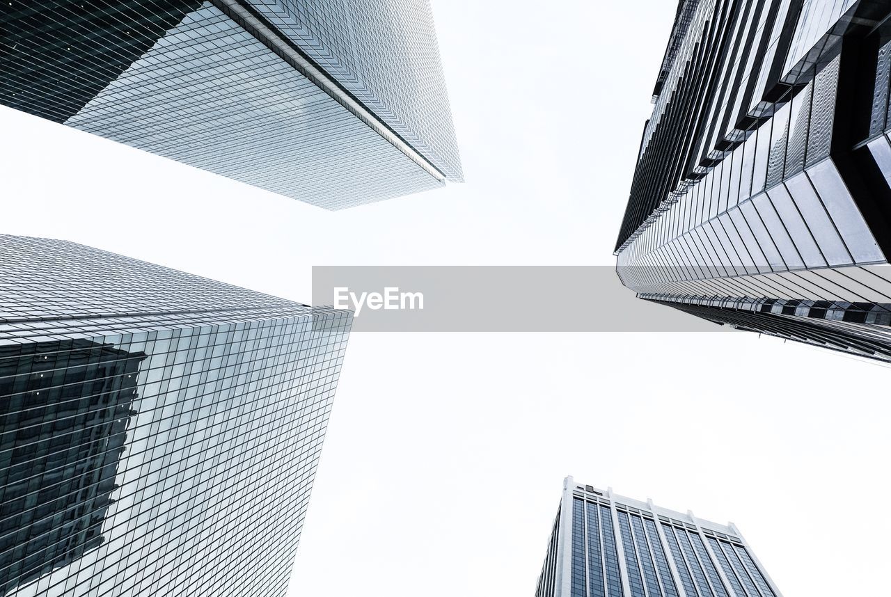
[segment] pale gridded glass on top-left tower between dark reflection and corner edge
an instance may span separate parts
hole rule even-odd
[[[442,185],[209,3],[66,124],[328,209]]]

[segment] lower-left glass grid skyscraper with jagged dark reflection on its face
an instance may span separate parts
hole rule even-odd
[[[351,322],[0,235],[0,595],[282,595]]]

